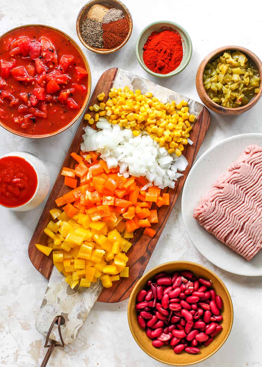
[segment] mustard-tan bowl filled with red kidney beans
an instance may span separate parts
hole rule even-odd
[[[144,352],[171,366],[189,366],[212,356],[233,324],[233,305],[222,280],[189,261],[147,272],[128,304],[130,331]]]

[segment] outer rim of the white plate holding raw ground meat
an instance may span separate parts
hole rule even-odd
[[[208,148],[199,158],[198,160],[193,164],[193,166],[191,167],[190,171],[189,171],[189,174],[187,175],[187,178],[186,178],[186,181],[184,183],[184,187],[183,187],[183,192],[182,192],[182,199],[181,199],[181,211],[182,211],[182,218],[183,218],[183,222],[184,222],[184,226],[186,228],[186,232],[187,232],[187,235],[189,236],[191,242],[193,243],[193,245],[195,246],[195,248],[197,248],[197,250],[201,253],[201,255],[203,255],[208,261],[210,261],[213,265],[217,266],[218,268],[220,269],[223,269],[229,273],[232,273],[232,274],[236,274],[236,275],[241,275],[241,276],[262,276],[262,269],[260,270],[261,272],[259,274],[250,274],[250,273],[245,273],[245,272],[237,272],[236,270],[230,270],[229,268],[227,267],[223,267],[221,266],[221,264],[219,263],[216,263],[216,261],[213,261],[213,259],[209,259],[205,253],[203,253],[201,251],[201,247],[199,248],[194,242],[193,240],[191,239],[191,236],[190,236],[190,233],[189,231],[187,230],[187,227],[186,227],[186,221],[185,221],[185,218],[184,218],[184,211],[183,211],[183,203],[184,203],[184,197],[185,197],[185,193],[186,193],[186,188],[187,188],[187,182],[190,181],[190,177],[191,175],[194,174],[194,171],[197,169],[197,167],[199,166],[200,163],[202,163],[202,160],[205,159],[205,157],[207,157],[209,155],[209,153],[213,150],[215,150],[216,148],[218,148],[220,145],[223,145],[223,143],[225,142],[229,142],[229,141],[234,141],[234,140],[237,140],[237,139],[240,139],[240,138],[251,138],[252,136],[254,136],[254,138],[261,138],[262,139],[262,134],[261,133],[255,133],[255,132],[251,132],[251,133],[247,133],[247,134],[238,134],[238,135],[233,135],[232,137],[229,137],[229,138],[225,138],[223,140],[221,140],[220,142],[212,145],[210,148]],[[237,157],[236,157],[237,159]],[[211,183],[212,185],[212,183]],[[211,186],[210,186],[211,187]],[[225,245],[226,246],[226,245]],[[262,250],[261,250],[262,251]]]

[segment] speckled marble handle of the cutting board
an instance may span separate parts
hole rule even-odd
[[[57,268],[53,268],[39,315],[36,328],[39,333],[47,335],[50,325],[56,316],[63,316],[65,324],[61,325],[65,344],[72,343],[83,326],[91,308],[102,291],[100,281],[92,283],[90,288],[71,289],[65,277]],[[60,341],[57,327],[54,327],[50,339]]]

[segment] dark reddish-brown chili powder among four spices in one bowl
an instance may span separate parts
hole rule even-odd
[[[129,25],[126,18],[115,22],[103,23],[104,48],[115,48],[119,46],[128,35]]]

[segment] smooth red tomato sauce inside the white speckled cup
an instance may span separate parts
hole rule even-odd
[[[24,158],[8,156],[0,159],[1,205],[21,206],[33,197],[36,188],[36,171]]]

